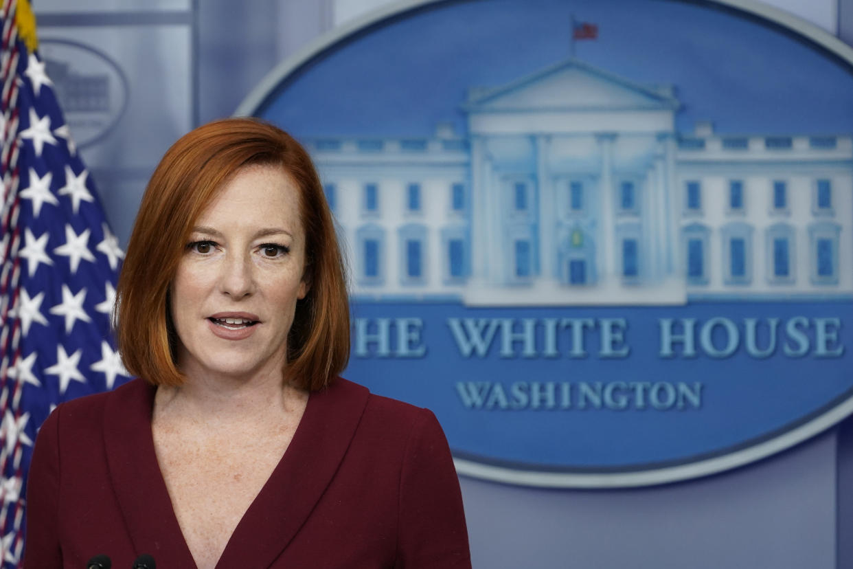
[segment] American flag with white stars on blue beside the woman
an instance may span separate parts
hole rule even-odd
[[[56,404],[127,372],[110,337],[124,253],[38,56],[26,0],[0,8],[0,567],[19,567],[26,473]]]

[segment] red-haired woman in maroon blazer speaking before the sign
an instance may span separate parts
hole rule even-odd
[[[116,332],[140,378],[38,434],[25,566],[470,567],[456,472],[427,409],[337,377],[349,311],[305,150],[226,119],[148,183]]]

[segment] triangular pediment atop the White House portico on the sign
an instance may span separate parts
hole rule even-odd
[[[570,59],[494,88],[473,88],[469,112],[676,109],[670,85],[641,85]]]

